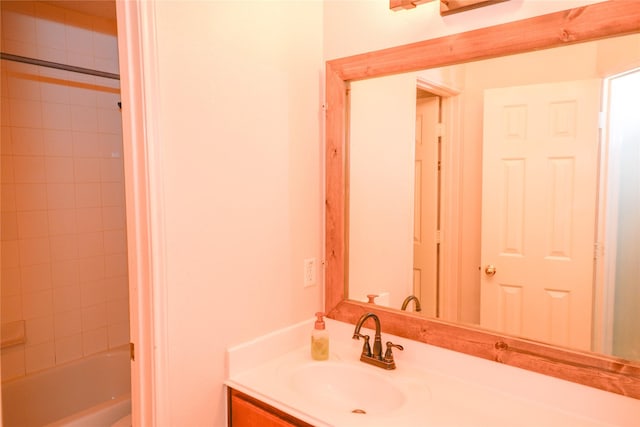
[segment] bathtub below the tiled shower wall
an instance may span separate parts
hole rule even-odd
[[[128,347],[2,384],[3,427],[107,427],[131,412]]]

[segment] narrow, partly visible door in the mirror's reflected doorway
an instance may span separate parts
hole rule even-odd
[[[416,103],[416,157],[413,226],[413,293],[425,316],[438,303],[438,123],[440,98]]]

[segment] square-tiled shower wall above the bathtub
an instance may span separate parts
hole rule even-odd
[[[1,6],[3,52],[118,73],[115,21]],[[119,82],[0,62],[6,380],[129,342],[129,308]]]

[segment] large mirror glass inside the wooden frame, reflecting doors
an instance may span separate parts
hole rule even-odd
[[[640,360],[638,76],[634,34],[352,82],[349,298]]]

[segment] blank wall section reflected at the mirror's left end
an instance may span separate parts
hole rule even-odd
[[[349,93],[349,292],[413,292],[416,76],[353,82]],[[376,303],[385,305],[383,298]]]

